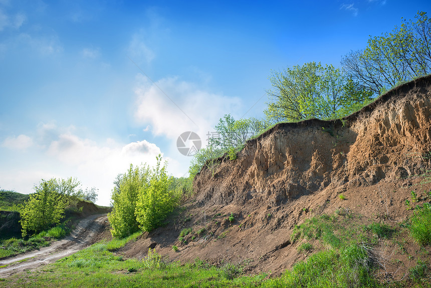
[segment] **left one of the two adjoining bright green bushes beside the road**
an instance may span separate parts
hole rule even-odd
[[[143,167],[130,168],[121,177],[117,176],[118,186],[112,191],[112,212],[108,214],[111,233],[114,237],[123,238],[139,230],[135,208],[140,189],[149,186],[150,169]]]

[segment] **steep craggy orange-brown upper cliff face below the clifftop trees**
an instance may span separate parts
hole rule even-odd
[[[431,152],[431,77],[401,85],[334,121],[278,124],[194,181],[200,203],[286,203],[325,189],[420,173]]]

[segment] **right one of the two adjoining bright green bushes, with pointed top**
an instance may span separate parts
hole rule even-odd
[[[172,212],[178,203],[179,195],[170,190],[172,178],[166,173],[166,162],[161,166],[162,157],[157,156],[157,164],[151,173],[149,185],[139,188],[135,216],[139,228],[151,231],[158,227],[168,213]]]

